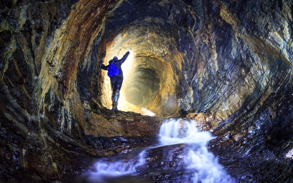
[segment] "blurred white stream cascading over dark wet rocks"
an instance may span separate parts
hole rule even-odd
[[[88,182],[191,182],[191,183],[232,183],[217,158],[208,151],[206,143],[213,139],[209,132],[198,131],[192,120],[169,119],[160,128],[160,145],[136,149],[129,155],[97,160],[95,171],[87,174]],[[180,145],[182,144],[182,145]],[[166,151],[166,152],[157,152]],[[165,156],[158,157],[156,154]],[[154,158],[155,156],[155,158]],[[155,161],[155,159],[158,162]],[[167,162],[167,163],[166,163]],[[171,166],[169,164],[175,164]],[[159,167],[157,168],[156,166]],[[168,165],[168,166],[166,166]],[[146,170],[149,168],[150,170]],[[163,169],[165,168],[165,169]],[[163,170],[162,170],[163,169]],[[181,177],[176,173],[183,172]],[[142,173],[144,172],[144,173]],[[171,175],[170,180],[143,180],[149,174],[160,177],[160,173]],[[166,176],[166,177],[168,177]],[[131,177],[131,180],[121,179]],[[135,180],[135,177],[139,177]],[[154,177],[154,176],[153,176]],[[183,177],[183,179],[181,179]],[[187,177],[187,178],[186,178]]]

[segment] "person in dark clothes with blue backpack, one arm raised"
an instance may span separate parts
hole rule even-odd
[[[108,65],[102,64],[102,69],[108,70],[108,76],[110,77],[111,81],[111,88],[112,88],[112,110],[113,111],[118,111],[117,105],[118,105],[118,98],[119,98],[119,93],[120,89],[122,86],[123,82],[123,73],[121,69],[121,65],[123,62],[126,60],[130,52],[126,52],[125,55],[118,60],[117,56],[114,56],[112,60],[109,61]],[[116,67],[113,67],[113,65]],[[111,67],[115,69],[114,73],[111,71]]]

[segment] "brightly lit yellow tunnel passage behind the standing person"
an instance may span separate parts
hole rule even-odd
[[[146,27],[129,27],[108,41],[104,64],[113,56],[122,58],[127,51],[130,55],[121,66],[124,80],[118,110],[164,117],[176,114],[182,63],[176,41]],[[101,101],[111,109],[110,79],[103,72]]]

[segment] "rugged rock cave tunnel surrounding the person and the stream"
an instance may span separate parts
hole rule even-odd
[[[70,182],[192,118],[237,182],[292,182],[292,0],[1,1],[0,181]],[[101,69],[130,51],[118,112]]]

